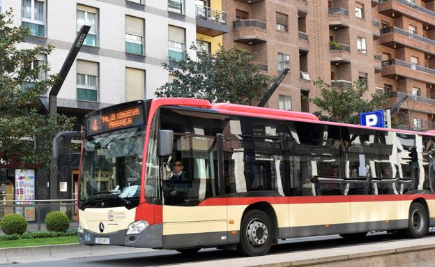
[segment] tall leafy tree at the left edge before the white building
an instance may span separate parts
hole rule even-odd
[[[39,111],[40,96],[58,77],[38,79],[49,66],[39,65],[36,56],[50,54],[54,47],[18,49],[29,30],[12,23],[12,10],[0,13],[0,153],[3,159],[19,161],[23,166],[46,165],[52,137],[70,130],[73,119]]]

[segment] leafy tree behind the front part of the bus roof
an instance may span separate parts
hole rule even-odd
[[[158,97],[252,105],[254,100],[261,99],[273,81],[273,77],[260,73],[259,66],[251,63],[254,56],[245,49],[221,46],[214,54],[195,44],[190,49],[196,52],[197,59],[185,52],[176,67],[162,64],[175,79],[157,89]]]

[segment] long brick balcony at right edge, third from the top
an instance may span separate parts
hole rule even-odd
[[[399,59],[382,61],[383,77],[391,79],[415,79],[428,84],[435,84],[435,70],[415,65]]]

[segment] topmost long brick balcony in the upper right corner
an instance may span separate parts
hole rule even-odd
[[[420,22],[435,24],[435,12],[418,6],[406,0],[381,0],[378,6],[379,13],[390,17],[406,15]]]

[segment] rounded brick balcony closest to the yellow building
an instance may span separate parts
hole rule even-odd
[[[234,42],[258,45],[267,40],[266,22],[260,20],[237,20],[233,22]]]

